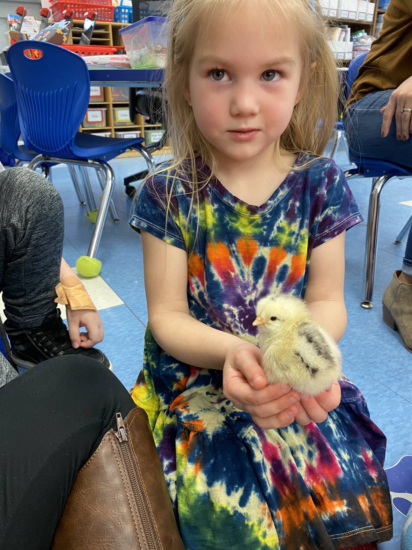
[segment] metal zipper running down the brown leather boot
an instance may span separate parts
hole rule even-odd
[[[136,466],[133,463],[133,458],[130,450],[129,439],[127,437],[126,426],[124,425],[123,418],[120,412],[116,412],[116,422],[118,425],[118,431],[116,432],[116,438],[118,438],[121,454],[125,461],[127,474],[129,474],[130,485],[133,495],[136,500],[138,513],[143,525],[144,535],[146,535],[149,550],[159,550],[157,540],[154,535],[153,522],[147,509],[146,498],[142,491],[142,486],[137,475]]]

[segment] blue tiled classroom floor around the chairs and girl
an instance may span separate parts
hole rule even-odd
[[[343,168],[347,166],[345,158],[339,157],[338,161]],[[138,234],[127,226],[131,201],[125,195],[123,178],[138,172],[144,163],[127,159],[115,160],[111,164],[117,178],[114,200],[120,223],[114,224],[109,219],[106,224],[98,252],[103,262],[101,284],[90,284],[94,285],[93,292],[101,289],[103,298],[99,301],[102,304],[99,309],[105,338],[100,347],[112,361],[116,375],[130,388],[142,365],[147,310],[142,247]],[[62,194],[65,205],[64,257],[74,266],[77,257],[87,252],[93,227],[84,215],[86,207],[77,202],[65,167],[53,169],[53,183]],[[365,217],[370,183],[370,179],[350,182]],[[98,195],[97,180],[92,179],[92,184]],[[366,226],[363,223],[347,233],[346,301],[349,320],[341,342],[344,372],[364,392],[372,419],[387,436],[387,467],[395,465],[404,455],[412,455],[412,356],[401,345],[399,335],[392,332],[381,318],[382,293],[393,271],[402,264],[404,245],[397,246],[393,241],[412,215],[411,196],[411,179],[391,182],[382,192],[374,308],[370,311],[359,306]],[[394,509],[395,535],[391,542],[381,545],[381,550],[399,549],[403,522],[404,515]]]

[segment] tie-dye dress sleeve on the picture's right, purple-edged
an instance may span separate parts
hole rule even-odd
[[[363,222],[348,182],[334,162],[326,175],[326,191],[313,248]]]

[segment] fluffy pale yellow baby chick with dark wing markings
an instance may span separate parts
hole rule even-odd
[[[269,383],[289,384],[318,395],[341,375],[341,353],[331,335],[310,316],[303,300],[272,294],[258,301],[258,342]]]

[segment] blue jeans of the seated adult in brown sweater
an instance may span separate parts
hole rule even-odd
[[[381,138],[382,114],[380,110],[389,101],[393,90],[372,92],[353,103],[343,118],[349,149],[358,156],[379,158],[412,168],[412,136],[398,141],[393,117],[386,138]],[[412,228],[409,231],[402,271],[412,276]]]

